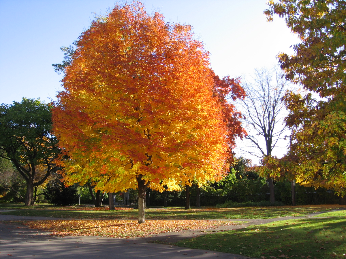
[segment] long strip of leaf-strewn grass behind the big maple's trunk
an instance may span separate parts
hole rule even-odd
[[[247,208],[202,208],[184,210],[183,208],[149,208],[146,209],[146,219],[268,219],[285,216],[304,216],[318,211],[329,211],[333,205],[315,207],[247,207]],[[23,204],[0,203],[0,212],[20,216],[46,216],[72,219],[136,219],[138,210],[119,208],[109,211],[107,207],[95,208],[92,206],[53,206],[49,204],[36,204],[24,207]]]

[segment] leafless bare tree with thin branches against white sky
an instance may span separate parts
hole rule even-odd
[[[286,108],[282,97],[288,84],[278,67],[255,70],[251,83],[243,80],[242,87],[247,96],[240,101],[240,104],[245,116],[243,124],[248,128],[246,139],[251,143],[243,151],[262,159],[272,155],[278,141],[283,139],[287,127],[283,121]],[[268,182],[270,201],[273,203],[274,182],[269,175]]]

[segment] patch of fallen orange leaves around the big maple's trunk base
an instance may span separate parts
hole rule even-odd
[[[150,237],[153,234],[216,228],[236,225],[220,220],[35,220],[24,223],[29,228],[52,232],[55,236],[104,236],[115,238]]]

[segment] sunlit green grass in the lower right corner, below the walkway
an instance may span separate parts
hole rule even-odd
[[[346,217],[276,221],[208,234],[175,245],[251,258],[345,258]]]

